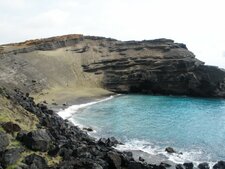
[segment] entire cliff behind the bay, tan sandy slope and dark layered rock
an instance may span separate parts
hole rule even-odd
[[[30,92],[71,85],[225,97],[225,71],[204,65],[184,44],[168,39],[122,42],[67,35],[3,45],[0,60],[0,83]]]

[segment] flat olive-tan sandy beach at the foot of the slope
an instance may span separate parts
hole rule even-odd
[[[45,103],[54,110],[65,109],[72,105],[85,104],[115,93],[103,88],[56,87],[33,95],[36,103]]]

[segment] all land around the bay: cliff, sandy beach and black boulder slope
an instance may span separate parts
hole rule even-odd
[[[0,168],[161,169],[170,165],[135,161],[116,139],[95,140],[49,108],[113,93],[224,98],[225,71],[173,40],[66,35],[1,45],[0,88]]]

